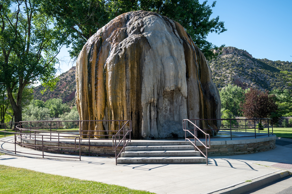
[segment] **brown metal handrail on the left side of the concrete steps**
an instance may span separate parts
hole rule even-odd
[[[129,130],[126,130],[126,133],[125,133],[125,126],[126,124],[129,122]],[[123,130],[123,138],[120,140],[120,132],[121,130]],[[123,127],[121,127],[121,129],[119,129],[119,131],[112,136],[112,147],[114,149],[114,153],[115,153],[115,158],[116,158],[116,165],[117,165],[117,159],[119,157],[119,155],[122,153],[122,152],[125,152],[125,147],[126,145],[128,144],[128,142],[130,141],[131,142],[131,131],[132,131],[132,120],[128,120],[124,125]],[[129,134],[129,139],[126,139],[126,136]],[[119,143],[117,145],[117,136],[119,136]],[[126,142],[127,141],[127,142]],[[123,142],[123,148],[121,149],[121,151],[119,152],[119,154],[117,155],[117,148],[119,147],[119,145]]]

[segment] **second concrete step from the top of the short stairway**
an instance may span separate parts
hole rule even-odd
[[[191,145],[141,145],[141,146],[127,146],[125,151],[155,151],[155,150],[194,150]]]

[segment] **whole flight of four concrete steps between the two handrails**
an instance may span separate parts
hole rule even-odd
[[[185,141],[131,142],[117,159],[118,164],[195,164],[206,158]]]

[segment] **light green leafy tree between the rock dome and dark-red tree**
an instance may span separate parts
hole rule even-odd
[[[235,116],[241,116],[240,103],[244,100],[244,90],[238,86],[228,84],[219,92],[221,112],[229,110]]]

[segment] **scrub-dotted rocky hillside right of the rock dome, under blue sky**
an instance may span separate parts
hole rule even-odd
[[[285,89],[287,85],[284,74],[280,71],[292,71],[291,62],[256,59],[247,51],[235,47],[225,47],[223,54],[208,63],[212,70],[213,82],[219,90],[228,83],[244,89]]]

